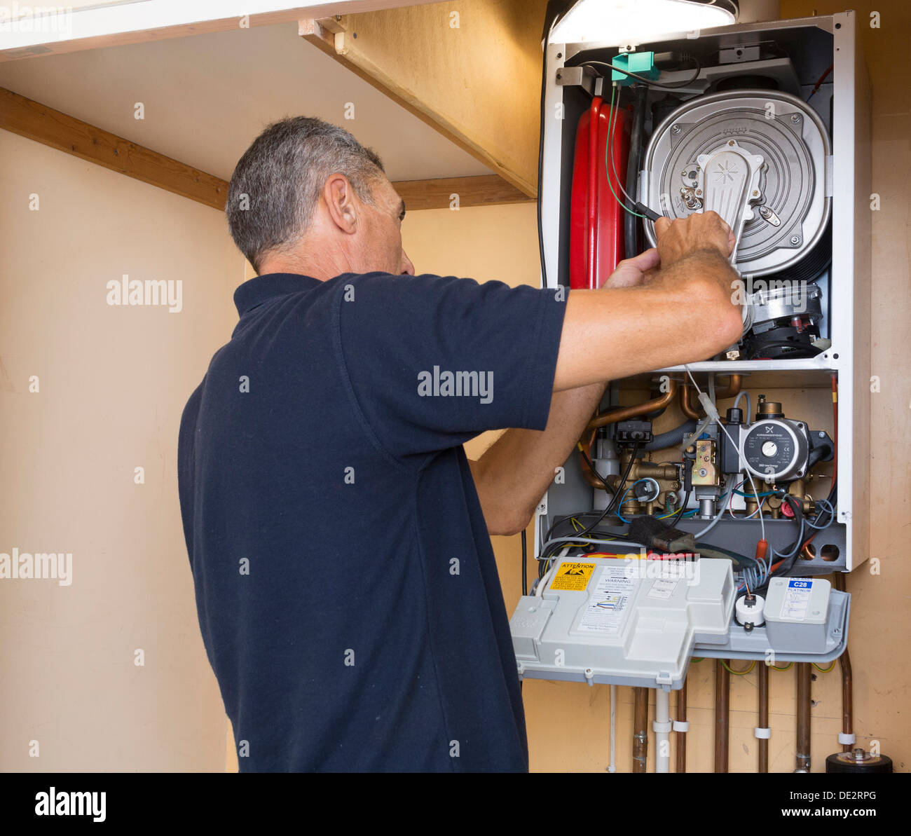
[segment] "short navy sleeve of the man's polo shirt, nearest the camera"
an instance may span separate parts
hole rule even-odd
[[[394,458],[548,423],[564,297],[501,281],[336,279],[336,352],[355,408]]]

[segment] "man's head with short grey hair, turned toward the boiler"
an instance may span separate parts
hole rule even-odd
[[[341,127],[292,117],[267,127],[234,169],[231,237],[257,273],[413,273],[404,202],[383,163]]]

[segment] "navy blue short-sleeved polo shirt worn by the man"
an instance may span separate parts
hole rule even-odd
[[[234,301],[179,495],[241,771],[527,770],[462,443],[545,428],[565,303],[386,273],[265,275]]]

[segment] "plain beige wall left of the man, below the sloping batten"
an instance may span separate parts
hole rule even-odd
[[[220,770],[176,453],[243,260],[220,212],[5,131],[0,196],[0,552],[73,555],[0,579],[0,770]],[[123,273],[183,310],[109,306]]]

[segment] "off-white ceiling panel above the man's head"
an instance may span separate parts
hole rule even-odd
[[[297,115],[346,127],[392,180],[490,173],[304,41],[296,24],[9,61],[0,87],[223,179],[262,127]]]

